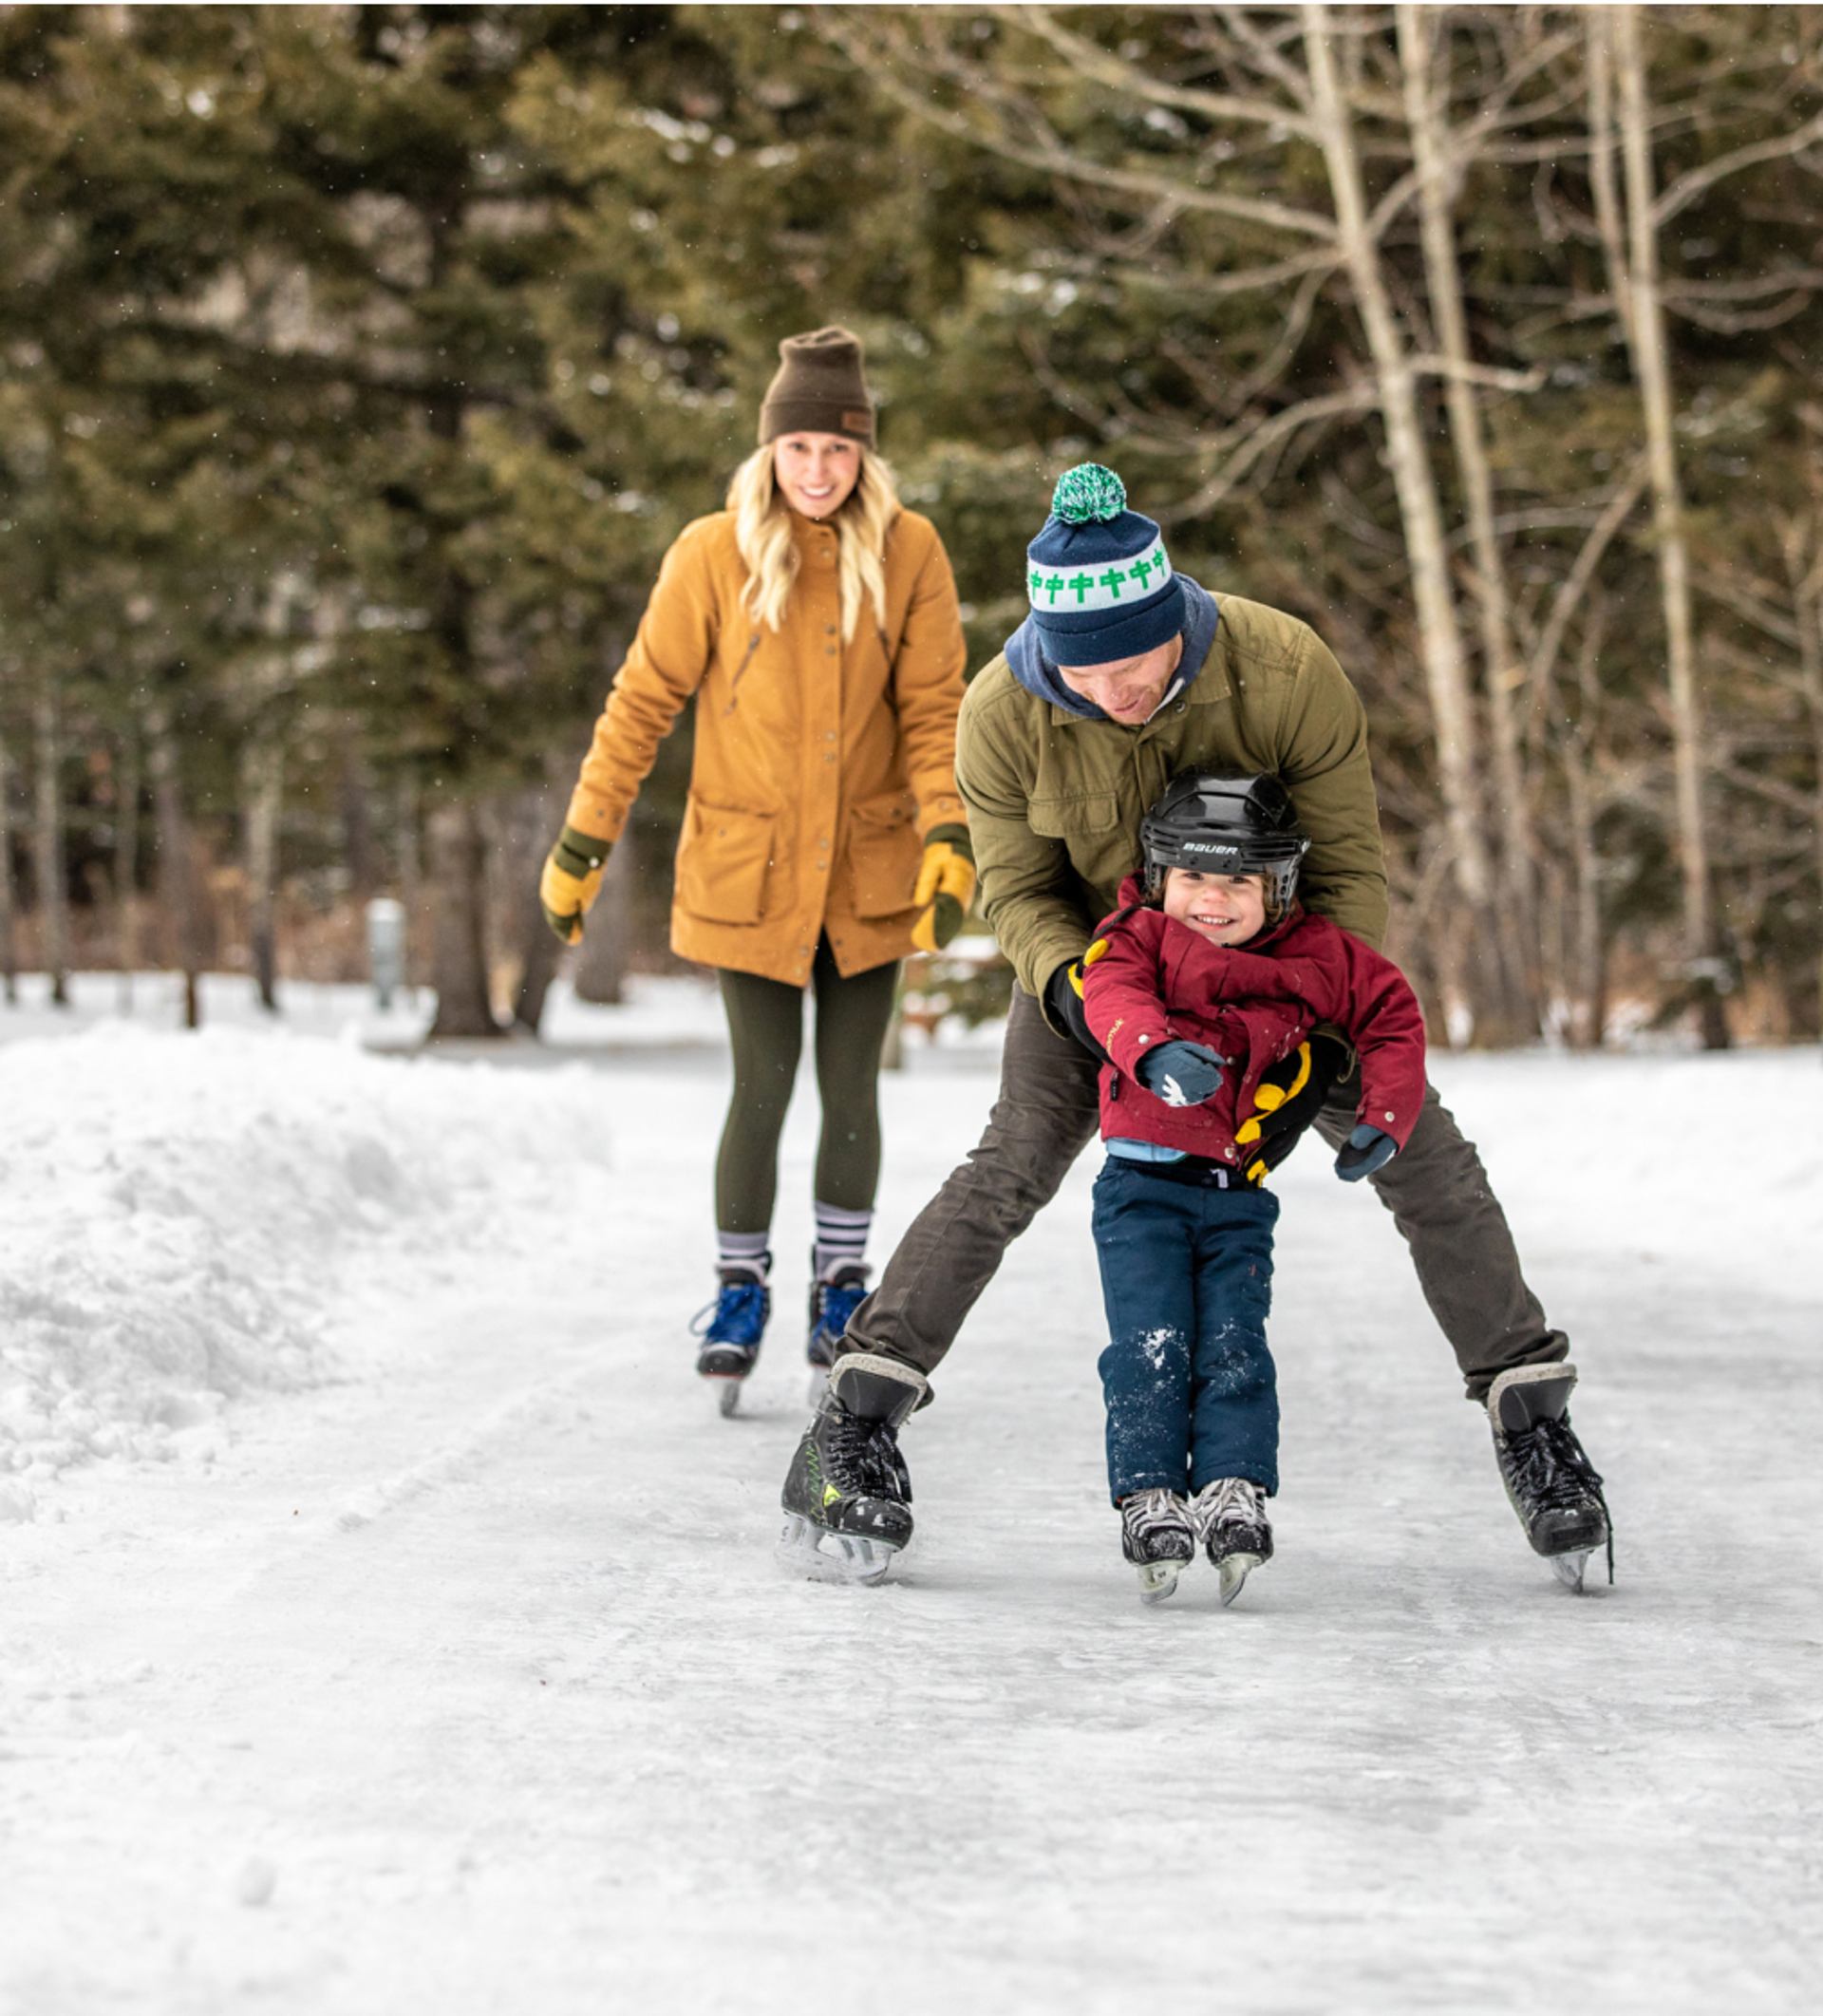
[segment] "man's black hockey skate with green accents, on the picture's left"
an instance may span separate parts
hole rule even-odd
[[[841,1583],[879,1583],[912,1538],[912,1474],[899,1425],[924,1399],[924,1375],[897,1359],[849,1351],[784,1478],[778,1558]]]

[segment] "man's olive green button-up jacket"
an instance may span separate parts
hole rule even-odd
[[[1194,768],[1281,778],[1311,837],[1299,895],[1379,946],[1385,861],[1361,698],[1309,623],[1224,595],[1202,669],[1139,728],[1028,694],[1004,653],[962,700],[956,782],[980,911],[1026,992],[1043,1000],[1117,907],[1139,821]]]

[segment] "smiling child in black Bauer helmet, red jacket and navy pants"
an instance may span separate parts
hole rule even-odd
[[[1297,903],[1309,849],[1272,776],[1186,772],[1139,829],[1143,883],[1083,960],[1107,1165],[1095,1248],[1107,1476],[1139,1591],[1178,1587],[1198,1540],[1232,1603],[1272,1556],[1279,1395],[1266,1349],[1279,1200],[1246,1169],[1260,1075],[1333,1022],[1359,1052],[1343,1181],[1406,1145],[1424,1099],[1424,1020],[1400,970]],[[1274,1089],[1266,1087],[1270,1095]]]

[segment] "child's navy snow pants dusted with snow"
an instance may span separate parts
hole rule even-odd
[[[1279,1490],[1279,1387],[1266,1349],[1272,1226],[1264,1189],[1158,1175],[1109,1155],[1095,1177],[1095,1252],[1113,1343],[1101,1353],[1107,1488],[1250,1478]]]

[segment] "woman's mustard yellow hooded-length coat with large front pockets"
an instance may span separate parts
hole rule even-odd
[[[803,986],[819,933],[843,974],[912,950],[924,835],[956,796],[962,619],[936,526],[901,510],[885,625],[863,597],[845,647],[837,534],[793,512],[799,577],[778,631],[742,605],[734,514],[684,528],[659,569],[567,823],[619,839],[657,744],[698,696],[672,950]]]

